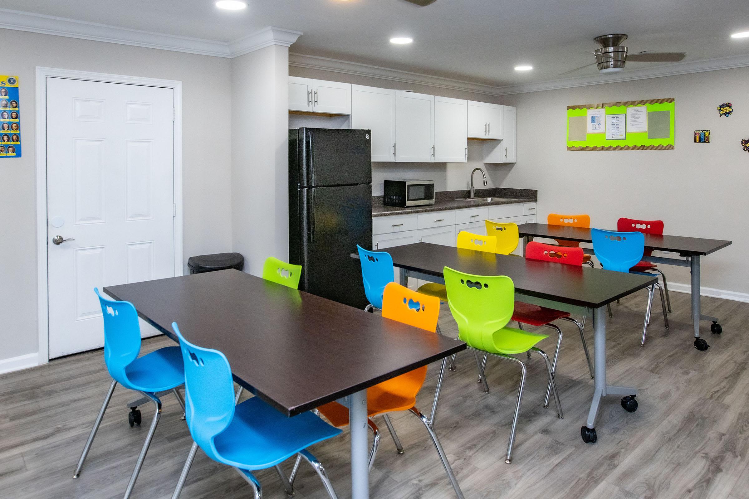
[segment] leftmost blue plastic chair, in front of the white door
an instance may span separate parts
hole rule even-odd
[[[94,437],[104,417],[106,407],[109,405],[109,400],[112,399],[115,386],[119,383],[124,388],[141,392],[148,399],[151,399],[151,402],[154,402],[156,406],[151,429],[148,430],[148,435],[136,462],[136,468],[130,477],[130,483],[127,484],[127,491],[124,496],[127,499],[133,492],[136,480],[138,480],[138,474],[161,417],[161,400],[157,395],[163,391],[172,391],[184,409],[184,401],[177,390],[179,386],[184,385],[184,367],[182,367],[182,356],[178,346],[167,346],[139,357],[141,333],[136,307],[133,307],[133,304],[129,301],[106,299],[97,288],[94,288],[94,292],[99,296],[101,312],[104,316],[104,363],[109,371],[109,376],[112,376],[112,384],[109,385],[109,392],[104,398],[94,427],[91,429],[88,441],[83,447],[83,453],[78,461],[73,478],[78,478],[81,474],[83,462],[88,456],[88,451],[91,450],[91,444],[94,442]],[[133,411],[131,413],[131,426],[133,425],[133,414],[137,414],[135,422],[139,423],[140,418],[140,412]]]

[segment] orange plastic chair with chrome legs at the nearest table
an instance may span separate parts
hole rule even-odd
[[[436,296],[426,296],[422,293],[417,293],[395,282],[386,285],[382,300],[382,316],[386,319],[403,322],[404,324],[434,333],[437,331],[437,317],[439,315],[440,299]],[[437,398],[442,387],[446,365],[447,359],[443,359],[440,378],[437,382],[437,390],[434,394],[431,419],[422,414],[415,406],[416,394],[419,393],[426,379],[426,366],[419,367],[408,373],[401,374],[401,376],[395,376],[395,378],[367,388],[367,415],[370,418],[380,415],[383,417],[392,440],[395,442],[398,454],[403,453],[403,447],[401,447],[401,442],[398,440],[398,435],[395,433],[395,429],[387,413],[410,411],[411,414],[418,417],[429,433],[434,447],[437,447],[437,453],[440,455],[447,477],[450,483],[452,483],[452,488],[455,489],[455,494],[458,495],[459,499],[463,499],[463,494],[458,486],[458,482],[455,480],[455,475],[452,474],[452,468],[450,468],[450,464],[447,461],[447,456],[442,449],[439,439],[437,439],[437,435],[434,433],[434,429],[432,429],[434,411],[437,408]],[[329,402],[321,405],[318,410],[336,428],[348,425],[348,408],[344,405],[338,402]],[[370,468],[372,468],[376,452],[376,447],[373,447],[372,451],[370,451]]]

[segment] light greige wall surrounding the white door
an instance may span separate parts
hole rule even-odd
[[[23,157],[0,159],[0,360],[37,352],[34,71],[59,67],[183,82],[184,258],[231,248],[231,61],[0,29],[19,75]],[[205,141],[206,135],[211,140]]]

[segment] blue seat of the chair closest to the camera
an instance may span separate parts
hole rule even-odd
[[[305,412],[286,417],[258,397],[237,405],[231,424],[213,438],[226,465],[260,470],[278,465],[312,444],[339,435],[320,417]]]

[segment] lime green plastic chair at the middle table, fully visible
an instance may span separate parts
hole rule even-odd
[[[489,387],[479,360],[479,352],[515,362],[521,368],[518,404],[515,406],[515,417],[512,418],[512,430],[505,459],[505,462],[510,464],[527,372],[523,361],[512,357],[513,354],[533,350],[544,358],[551,391],[554,393],[554,403],[557,405],[557,416],[560,419],[564,417],[557,385],[554,383],[551,361],[542,349],[536,347],[539,341],[548,338],[548,334],[536,334],[507,327],[512,318],[512,310],[515,309],[515,284],[506,275],[471,275],[449,267],[444,268],[443,275],[447,288],[447,303],[455,322],[458,322],[458,337],[473,350],[476,367],[479,368],[479,376],[484,383],[484,391],[489,393]]]

